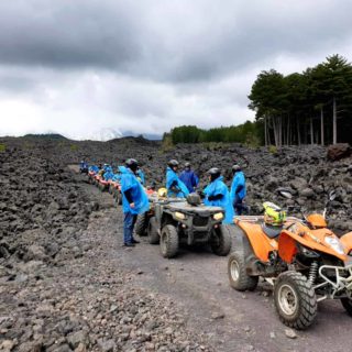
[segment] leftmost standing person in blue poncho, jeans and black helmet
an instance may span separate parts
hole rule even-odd
[[[133,229],[136,217],[150,209],[147,196],[136,178],[138,162],[129,158],[125,167],[120,166],[121,172],[121,194],[123,210],[123,242],[125,246],[134,246],[140,243],[133,238]]]

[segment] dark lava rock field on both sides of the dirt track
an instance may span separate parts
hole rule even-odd
[[[107,143],[1,139],[0,152],[0,350],[4,351],[202,351],[207,338],[185,323],[186,312],[167,297],[139,287],[143,272],[122,268],[105,233],[106,196],[91,194],[67,165],[121,164],[138,158],[148,182],[164,183],[167,160],[206,170],[233,163],[248,176],[248,204],[278,204],[278,186],[292,188],[307,210],[321,209],[336,189],[330,224],[352,230],[351,158],[328,161],[323,147],[284,147],[279,153],[240,145],[178,145],[122,139]],[[111,228],[111,224],[110,224]],[[121,223],[118,228],[121,234]],[[118,268],[118,270],[117,270]]]

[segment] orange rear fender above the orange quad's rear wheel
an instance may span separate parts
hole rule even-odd
[[[268,261],[268,253],[277,250],[277,242],[270,239],[257,223],[245,222],[235,219],[235,223],[245,232],[255,256],[262,262]]]

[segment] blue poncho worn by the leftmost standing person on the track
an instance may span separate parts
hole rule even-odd
[[[122,194],[122,210],[123,212],[131,212],[139,215],[150,209],[150,201],[141,183],[136,179],[133,172],[124,166],[119,166],[121,172],[121,194]],[[129,201],[124,196],[124,191],[132,189],[131,196],[134,202],[134,208],[130,207]]]

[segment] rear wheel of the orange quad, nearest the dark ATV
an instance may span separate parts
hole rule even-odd
[[[246,273],[243,252],[232,252],[229,256],[228,276],[230,286],[237,290],[254,290],[257,286],[258,276]]]

